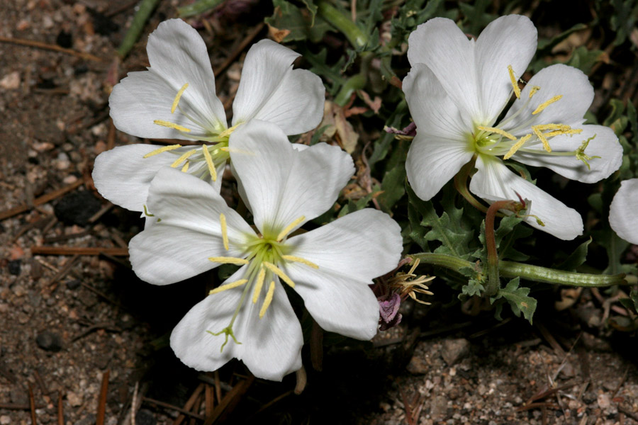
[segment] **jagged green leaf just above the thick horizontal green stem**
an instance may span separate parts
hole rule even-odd
[[[415,242],[421,246],[427,246],[425,242],[438,241],[440,246],[437,246],[434,250],[436,254],[447,254],[460,259],[469,259],[471,256],[470,241],[474,237],[474,230],[469,226],[465,226],[462,218],[463,208],[456,208],[453,198],[452,201],[444,202],[444,212],[441,216],[437,215],[431,201],[420,200],[410,186],[408,186],[408,200],[421,217],[418,224],[410,220],[411,225],[430,228],[423,235],[423,240],[415,240]],[[412,236],[413,234],[410,234],[410,237]]]

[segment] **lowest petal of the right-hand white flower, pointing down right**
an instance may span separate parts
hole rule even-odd
[[[538,225],[534,217],[525,218],[527,224],[564,240],[583,233],[583,219],[576,210],[508,170],[500,159],[479,156],[476,169],[478,171],[472,177],[469,189],[477,196],[493,203],[496,200],[517,200],[518,193],[523,199],[532,201],[527,214],[537,215],[544,222],[544,227]]]

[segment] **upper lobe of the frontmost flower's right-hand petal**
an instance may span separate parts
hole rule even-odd
[[[401,259],[401,227],[385,212],[365,208],[287,240],[293,256],[357,280],[371,283]],[[303,266],[306,267],[307,266]]]

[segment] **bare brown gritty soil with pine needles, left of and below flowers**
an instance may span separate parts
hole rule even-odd
[[[635,338],[606,326],[610,303],[596,290],[561,312],[561,293],[548,294],[530,326],[468,317],[435,280],[434,305],[405,305],[403,323],[372,343],[325,336],[321,371],[305,348],[301,395],[294,374],[268,382],[238,362],[207,374],[181,365],[167,337],[210,276],[166,288],[135,278],[122,253],[142,222],[90,179],[97,154],[139,142],[113,128],[108,93],[144,69],[147,34],[178,3],[160,3],[119,63],[135,2],[1,1],[1,37],[76,54],[0,42],[0,425],[638,424]],[[201,24],[227,107],[240,45],[267,35],[256,26],[268,13]]]

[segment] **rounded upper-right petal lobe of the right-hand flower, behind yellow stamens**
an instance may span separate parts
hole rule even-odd
[[[540,87],[540,90],[530,99],[530,90],[535,86]],[[532,115],[541,103],[559,95],[563,96],[559,101]],[[593,96],[593,88],[580,69],[564,64],[543,68],[522,89],[520,99],[513,103],[505,120],[529,101],[525,111],[503,125],[503,129],[520,136],[531,132],[532,125],[566,124],[576,127],[583,122],[583,115],[591,105]]]

